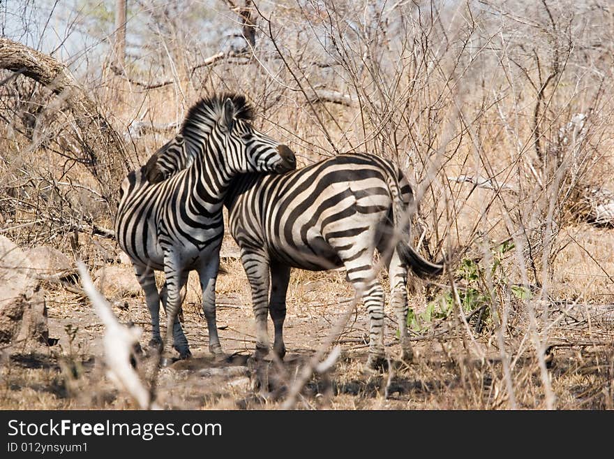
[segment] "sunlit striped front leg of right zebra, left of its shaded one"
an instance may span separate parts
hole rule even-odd
[[[256,360],[269,354],[269,259],[261,252],[241,250],[241,262],[252,289],[252,307],[256,319]],[[285,314],[284,314],[285,315]]]

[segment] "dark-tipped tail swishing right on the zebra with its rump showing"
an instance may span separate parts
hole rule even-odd
[[[396,245],[400,258],[407,263],[407,265],[410,265],[412,271],[419,277],[428,278],[440,275],[444,270],[444,260],[440,260],[437,263],[428,261],[412,247],[409,216],[406,215],[407,205],[403,202],[398,180],[394,177],[389,178],[388,186],[394,203],[392,211],[394,227],[397,231],[401,231],[402,233]],[[400,221],[401,217],[405,217],[407,221]]]

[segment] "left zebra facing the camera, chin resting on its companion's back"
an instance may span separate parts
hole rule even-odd
[[[115,220],[119,246],[130,257],[151,315],[151,346],[164,350],[160,299],[167,312],[165,342],[172,333],[181,358],[191,353],[177,319],[190,270],[197,270],[209,351],[223,356],[216,327],[215,286],[224,234],[223,201],[235,175],[283,173],[296,168],[287,145],[257,131],[254,112],[239,94],[201,99],[179,134],[121,184]],[[177,171],[165,174],[165,170]],[[158,292],[154,270],[165,272]]]

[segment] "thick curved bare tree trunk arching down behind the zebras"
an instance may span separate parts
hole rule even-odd
[[[61,94],[80,131],[82,161],[100,183],[100,193],[114,214],[121,180],[128,173],[126,146],[86,90],[64,64],[8,38],[0,38],[0,68],[22,73]]]

